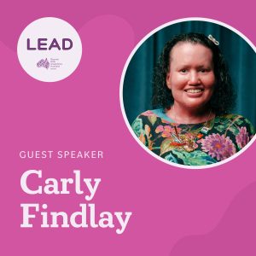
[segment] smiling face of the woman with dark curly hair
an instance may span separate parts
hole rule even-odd
[[[166,84],[172,90],[175,105],[202,109],[212,97],[214,83],[211,49],[187,42],[172,48]]]

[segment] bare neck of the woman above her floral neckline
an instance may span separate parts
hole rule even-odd
[[[207,122],[214,118],[211,108],[180,108],[178,104],[173,104],[172,107],[166,111],[166,115],[173,119],[177,124],[199,124]]]

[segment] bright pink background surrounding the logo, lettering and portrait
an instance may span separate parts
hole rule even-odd
[[[20,67],[16,44],[32,20],[72,24],[83,57],[69,78],[43,83]],[[207,170],[168,166],[131,137],[119,107],[119,80],[134,46],[152,29],[186,17],[236,27],[256,42],[253,1],[7,1],[0,10],[1,255],[255,255],[255,143]],[[254,75],[254,74],[252,74]],[[103,160],[20,160],[20,150],[103,150]],[[102,229],[21,229],[20,203],[75,212],[81,195],[26,195],[20,176],[101,177],[96,211],[133,215],[123,235]]]

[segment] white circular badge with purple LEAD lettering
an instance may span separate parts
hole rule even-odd
[[[33,21],[21,33],[17,54],[21,67],[43,82],[66,79],[79,66],[79,33],[65,20],[47,17]]]

